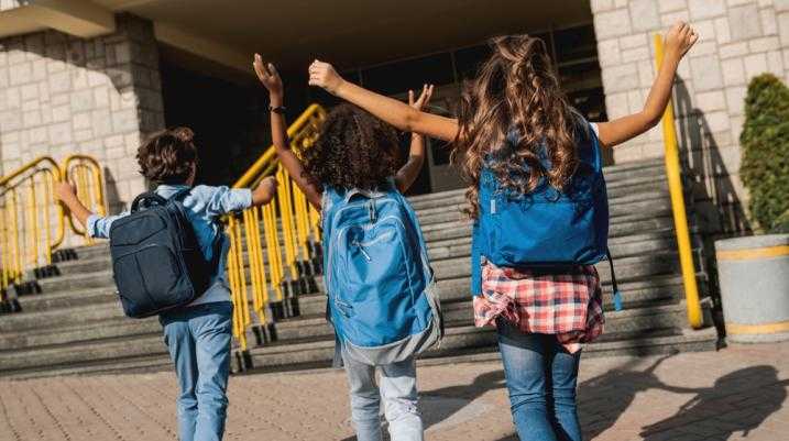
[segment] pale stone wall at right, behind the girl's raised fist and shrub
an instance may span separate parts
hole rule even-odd
[[[738,145],[747,82],[789,79],[789,0],[592,0],[609,118],[642,109],[655,76],[653,35],[677,20],[700,41],[681,63],[675,109],[697,212],[713,233],[748,228]],[[656,128],[614,151],[617,163],[662,156]]]

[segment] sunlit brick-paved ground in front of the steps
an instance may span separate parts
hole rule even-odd
[[[587,440],[777,441],[789,343],[581,364]],[[419,370],[428,440],[514,441],[501,365]],[[172,374],[0,381],[2,441],[176,439]],[[227,440],[352,440],[342,372],[237,376]]]

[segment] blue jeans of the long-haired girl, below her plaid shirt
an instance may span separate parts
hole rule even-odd
[[[556,335],[527,334],[498,319],[498,348],[513,421],[522,441],[581,441],[576,387],[581,352]]]

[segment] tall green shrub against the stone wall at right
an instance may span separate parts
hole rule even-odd
[[[739,143],[750,216],[759,229],[770,230],[789,210],[789,88],[774,75],[750,80]]]

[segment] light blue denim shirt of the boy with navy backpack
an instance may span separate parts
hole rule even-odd
[[[156,187],[155,192],[165,199],[171,198],[178,190],[189,188],[187,185],[166,185]],[[230,301],[230,288],[224,272],[228,249],[230,242],[223,232],[219,230],[215,221],[232,211],[244,210],[252,206],[252,191],[250,189],[230,189],[228,187],[210,187],[198,185],[191,188],[189,195],[184,198],[184,208],[187,209],[189,220],[197,234],[197,241],[202,249],[206,258],[213,257],[211,244],[217,234],[222,234],[221,256],[218,260],[217,268],[211,275],[210,288],[190,305],[209,304],[213,301]],[[116,216],[99,217],[92,214],[88,218],[87,229],[92,238],[108,239],[110,227],[116,219],[129,216],[122,212]]]

